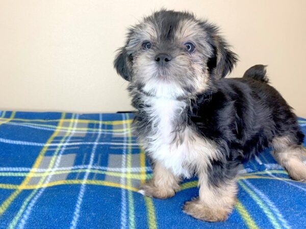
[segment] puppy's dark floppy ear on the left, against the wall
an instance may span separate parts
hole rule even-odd
[[[120,49],[114,61],[114,68],[123,79],[131,81],[131,57],[127,54],[125,48]]]

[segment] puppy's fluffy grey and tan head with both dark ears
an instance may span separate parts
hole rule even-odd
[[[215,25],[187,12],[161,10],[130,28],[114,66],[130,89],[180,98],[205,91],[236,61]]]

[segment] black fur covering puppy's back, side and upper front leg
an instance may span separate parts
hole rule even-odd
[[[237,165],[269,147],[274,137],[290,136],[294,145],[302,144],[296,116],[260,74],[264,67],[251,67],[243,78],[217,80],[212,92],[197,95],[188,111],[190,125],[222,152],[208,173],[213,185],[236,176]]]

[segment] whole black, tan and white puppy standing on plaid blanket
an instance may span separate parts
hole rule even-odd
[[[294,180],[306,179],[296,116],[265,66],[224,78],[236,62],[218,28],[187,12],[161,10],[130,28],[114,66],[129,81],[135,133],[154,167],[141,194],[169,198],[196,175],[199,196],[184,212],[226,220],[238,165],[270,146]]]

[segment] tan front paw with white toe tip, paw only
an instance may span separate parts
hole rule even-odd
[[[177,185],[180,187],[179,185]],[[175,190],[169,187],[156,187],[152,183],[147,183],[144,185],[141,185],[139,187],[140,194],[154,197],[154,198],[159,198],[159,199],[166,199],[174,196]]]

